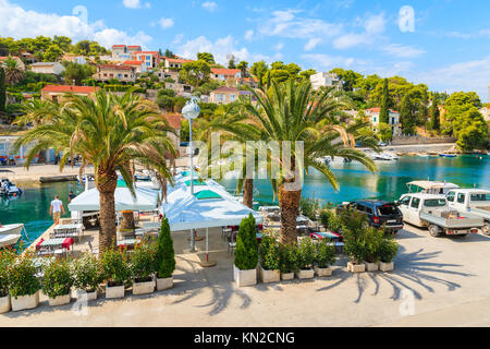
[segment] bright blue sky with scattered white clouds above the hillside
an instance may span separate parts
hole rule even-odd
[[[487,0],[0,0],[0,36],[58,34],[189,58],[211,51],[223,63],[234,53],[317,71],[342,67],[437,91],[476,91],[487,101],[488,13]]]

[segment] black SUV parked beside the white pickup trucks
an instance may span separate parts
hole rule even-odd
[[[375,228],[384,227],[392,233],[403,228],[403,215],[395,203],[382,200],[359,200],[338,207],[339,209],[356,209],[365,213],[369,225]]]

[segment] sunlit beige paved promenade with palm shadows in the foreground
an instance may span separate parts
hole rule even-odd
[[[203,234],[203,232],[200,232]],[[0,315],[2,326],[489,326],[490,238],[400,232],[396,269],[351,275],[343,258],[333,277],[235,288],[232,257],[219,231],[210,238],[215,268],[204,253],[185,254],[187,233],[174,233],[175,287],[147,297],[107,301],[76,314],[71,305]],[[205,242],[198,242],[204,249]],[[413,315],[412,315],[413,314]]]

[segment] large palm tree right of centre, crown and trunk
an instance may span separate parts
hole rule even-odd
[[[319,160],[320,157],[357,160],[371,172],[376,170],[376,165],[363,152],[354,148],[356,132],[364,124],[344,128],[338,122],[339,112],[345,108],[345,104],[335,96],[333,89],[315,93],[309,82],[291,80],[283,84],[271,81],[268,92],[252,92],[258,107],[254,107],[249,100],[244,101],[248,120],[234,125],[235,131],[230,131],[237,136],[240,133],[243,140],[278,142],[282,149],[286,143],[291,144],[291,154],[287,156],[284,156],[284,152],[282,156],[268,154],[268,169],[271,163],[281,165],[278,178],[271,178],[282,213],[280,240],[282,243],[295,243],[302,179],[308,168],[320,171],[339,190],[334,173]],[[303,156],[295,142],[303,142]]]

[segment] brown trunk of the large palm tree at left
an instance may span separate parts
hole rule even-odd
[[[99,169],[96,176],[100,195],[99,251],[103,253],[110,250],[112,243],[115,242],[114,192],[118,186],[118,174],[115,171],[106,172]]]

